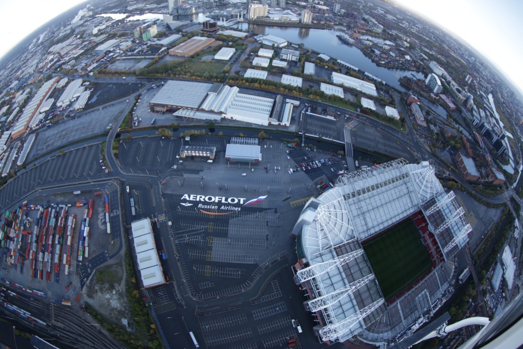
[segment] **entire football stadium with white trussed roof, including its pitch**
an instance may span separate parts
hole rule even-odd
[[[294,280],[308,294],[316,335],[390,345],[412,334],[452,294],[454,255],[471,230],[428,162],[340,176],[292,231]]]

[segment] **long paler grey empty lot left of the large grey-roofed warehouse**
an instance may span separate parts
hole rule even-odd
[[[42,129],[27,156],[27,161],[29,162],[53,149],[59,149],[62,145],[75,140],[104,133],[116,116],[124,111],[126,105],[126,102],[120,102],[90,109],[78,113],[74,119],[64,120],[57,125]]]

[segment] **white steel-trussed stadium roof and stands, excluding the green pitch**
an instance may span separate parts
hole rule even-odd
[[[471,230],[458,207],[428,162],[407,164],[403,159],[340,176],[334,188],[310,199],[292,231],[299,255],[309,263],[295,281],[308,283],[312,299],[305,305],[325,320],[322,339],[343,342],[358,334],[374,344],[397,340],[437,305],[452,282],[452,257]],[[437,239],[440,234],[454,238],[440,239],[447,262],[387,305],[360,241],[419,210]]]

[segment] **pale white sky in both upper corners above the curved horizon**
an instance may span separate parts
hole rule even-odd
[[[45,22],[85,0],[0,0],[0,58]],[[394,0],[456,33],[523,92],[521,0]]]

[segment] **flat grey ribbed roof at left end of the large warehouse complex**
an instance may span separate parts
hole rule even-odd
[[[198,108],[213,84],[191,81],[168,81],[151,99],[151,105]]]

